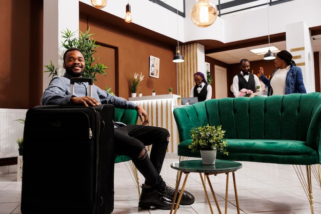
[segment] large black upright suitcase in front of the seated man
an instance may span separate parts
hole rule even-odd
[[[26,114],[23,214],[101,214],[114,205],[114,107],[37,106]]]

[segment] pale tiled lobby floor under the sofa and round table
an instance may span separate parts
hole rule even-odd
[[[177,159],[165,159],[162,177],[174,187],[176,170],[170,164]],[[310,205],[292,165],[241,162],[243,168],[235,172],[240,213],[264,214],[309,214]],[[127,162],[115,165],[115,214],[169,213],[169,210],[139,210],[138,192]],[[35,175],[35,176],[41,176]],[[185,176],[183,176],[184,178]],[[141,183],[144,181],[139,174]],[[225,174],[211,176],[211,182],[221,211],[224,213]],[[232,176],[229,183],[228,212],[237,213]],[[321,213],[321,190],[313,178],[314,213]],[[195,196],[195,203],[180,206],[178,214],[210,213],[198,173],[190,173],[185,189]],[[209,192],[210,193],[210,192]],[[218,213],[210,195],[214,213]],[[21,182],[16,182],[16,173],[0,174],[0,214],[21,213]]]

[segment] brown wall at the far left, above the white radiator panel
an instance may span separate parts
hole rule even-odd
[[[2,1],[0,108],[30,108],[42,91],[43,2]]]

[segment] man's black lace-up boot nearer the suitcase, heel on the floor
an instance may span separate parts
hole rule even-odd
[[[174,208],[175,206],[176,204],[174,205]],[[151,207],[155,207],[156,209],[171,209],[172,202],[167,201],[162,196],[157,194],[153,188],[143,184],[138,207],[141,209],[150,209]]]

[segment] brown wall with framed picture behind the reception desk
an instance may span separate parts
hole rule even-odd
[[[142,72],[145,77],[139,83],[137,93],[141,91],[143,95],[151,95],[152,90],[155,90],[156,94],[167,94],[169,87],[176,93],[176,64],[172,62],[175,47],[106,23],[102,18],[86,14],[86,11],[81,13],[79,26],[83,32],[90,28],[98,44],[113,47],[115,50],[110,52],[114,53],[114,56],[106,56],[99,55],[102,47],[97,49],[96,57],[101,56],[99,60],[105,66],[110,66],[106,69],[106,76],[97,77],[95,84],[98,87],[106,89],[112,85],[115,87],[112,87],[114,93],[128,99],[131,96],[129,75]],[[159,79],[149,76],[150,55],[159,58]],[[117,79],[118,81],[115,81]]]

